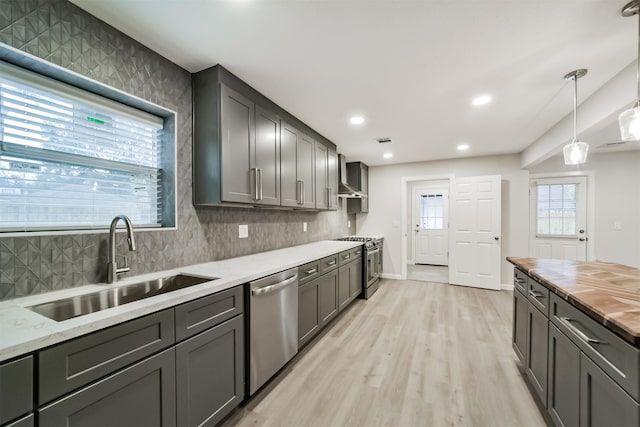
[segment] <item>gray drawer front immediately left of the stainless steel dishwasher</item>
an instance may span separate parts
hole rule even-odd
[[[243,288],[236,286],[175,307],[176,341],[242,314]]]

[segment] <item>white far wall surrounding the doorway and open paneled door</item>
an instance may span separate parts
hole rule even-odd
[[[402,178],[449,174],[502,175],[501,283],[512,283],[513,269],[504,258],[528,254],[529,172],[520,169],[519,155],[369,167],[369,213],[356,216],[357,234],[383,235],[384,274],[400,277],[402,234],[406,232],[401,230]]]

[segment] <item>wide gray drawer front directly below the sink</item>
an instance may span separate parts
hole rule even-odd
[[[46,403],[174,343],[171,308],[43,350],[38,401]]]

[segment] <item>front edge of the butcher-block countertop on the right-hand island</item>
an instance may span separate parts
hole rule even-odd
[[[629,344],[637,348],[640,348],[640,334],[633,333],[632,331],[628,330],[628,328],[624,324],[619,323],[616,319],[609,318],[607,317],[607,315],[594,310],[592,307],[583,303],[580,300],[579,296],[573,295],[569,292],[565,292],[559,286],[554,284],[551,280],[536,273],[534,269],[528,269],[523,264],[517,261],[518,258],[521,258],[521,257],[507,257],[506,259],[509,263],[513,264],[516,268],[524,271],[530,277],[535,278],[538,282],[540,282],[544,287],[549,289],[551,292],[561,297],[563,300],[567,301],[572,306],[576,307],[578,310],[580,310],[581,312],[589,316],[589,318],[605,326],[608,330],[614,332],[616,335],[618,335],[620,338],[622,338]],[[574,262],[577,262],[577,261],[574,261]]]

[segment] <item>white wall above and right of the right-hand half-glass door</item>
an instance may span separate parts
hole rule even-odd
[[[573,171],[558,156],[530,172]],[[595,259],[640,268],[640,151],[591,153],[581,170],[594,171]],[[621,230],[614,229],[619,222]]]

